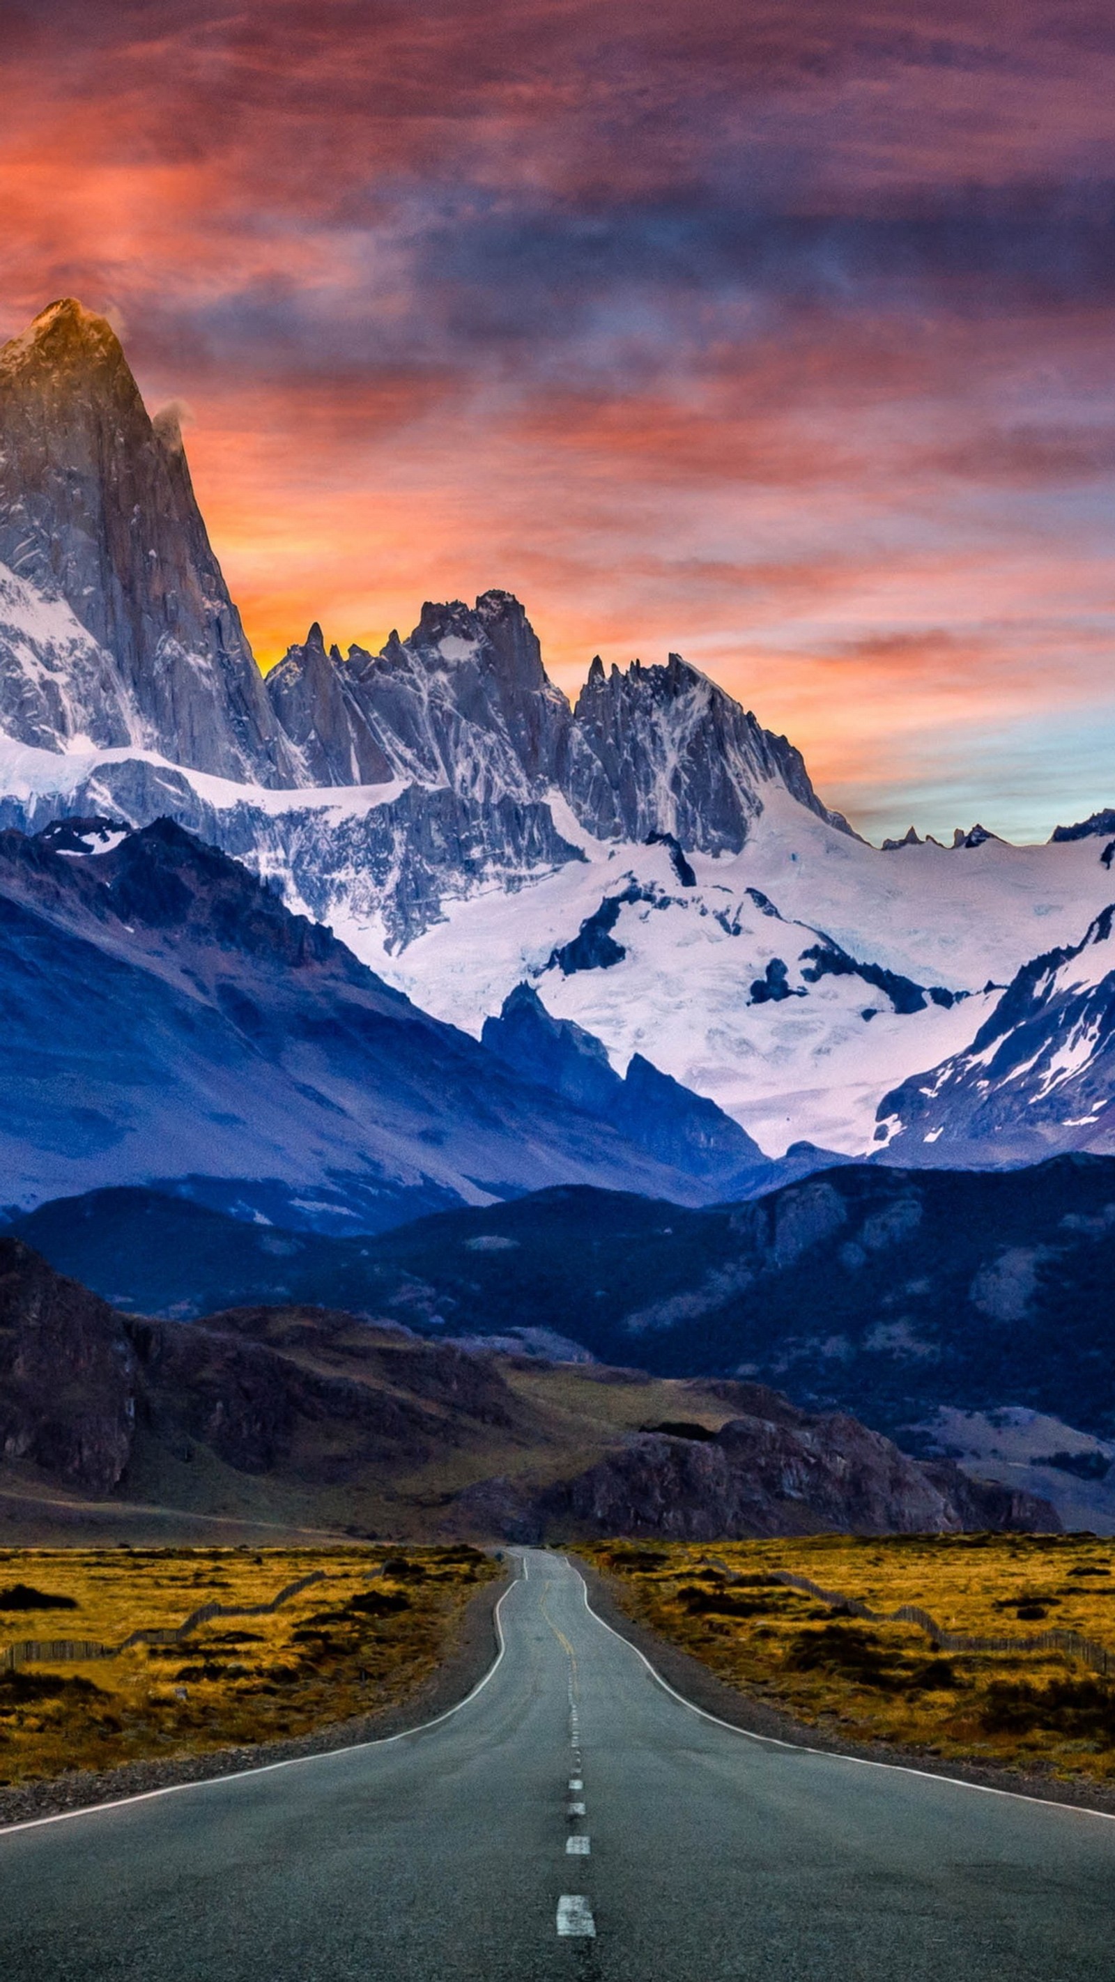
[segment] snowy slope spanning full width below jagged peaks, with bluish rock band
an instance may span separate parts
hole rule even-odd
[[[1115,892],[1095,836],[883,854],[778,785],[735,854],[600,840],[557,791],[489,807],[400,781],[261,791],[139,751],[0,745],[0,793],[22,830],[172,815],[436,1017],[479,1037],[525,981],[618,1072],[642,1052],[768,1156],[875,1148],[881,1098],[963,1052],[994,987],[1077,941]]]

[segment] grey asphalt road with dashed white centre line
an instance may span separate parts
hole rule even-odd
[[[0,1833],[0,1976],[1115,1982],[1115,1821],[705,1720],[545,1554],[501,1623],[426,1730]]]

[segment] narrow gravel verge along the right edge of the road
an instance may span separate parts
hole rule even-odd
[[[574,1554],[570,1550],[570,1554]],[[820,1748],[822,1754],[856,1756],[862,1762],[887,1762],[891,1768],[913,1768],[925,1776],[949,1776],[955,1782],[972,1782],[980,1790],[1006,1790],[1012,1796],[1030,1796],[1042,1804],[1067,1804],[1073,1810],[1097,1810],[1115,1816],[1115,1790],[1079,1778],[1065,1782],[1058,1776],[1042,1776],[1022,1768],[984,1766],[980,1762],[953,1762],[923,1748],[895,1748],[889,1742],[850,1742],[828,1728],[806,1726],[778,1707],[739,1693],[725,1679],[717,1679],[693,1653],[671,1645],[667,1637],[652,1631],[632,1617],[622,1603],[622,1584],[602,1576],[592,1562],[574,1554],[576,1568],[588,1584],[592,1609],[610,1623],[620,1637],[650,1659],[656,1673],[681,1693],[691,1707],[701,1707],[707,1714],[717,1714],[745,1734],[764,1734],[770,1740],[788,1742],[794,1748]]]

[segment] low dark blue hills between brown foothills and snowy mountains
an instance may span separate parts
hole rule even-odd
[[[1115,1528],[1111,1157],[846,1163],[693,1209],[558,1185],[360,1237],[133,1187],[10,1231],[131,1314],[319,1304],[505,1356],[760,1381]]]

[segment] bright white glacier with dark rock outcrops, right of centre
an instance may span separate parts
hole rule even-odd
[[[802,1138],[869,1152],[879,1098],[970,1043],[988,981],[1111,894],[1095,840],[879,854],[776,793],[739,854],[685,856],[693,886],[669,846],[580,848],[515,896],[450,904],[378,967],[469,1031],[525,979],[618,1070],[646,1054],[774,1156]],[[345,932],[374,953],[370,930]]]

